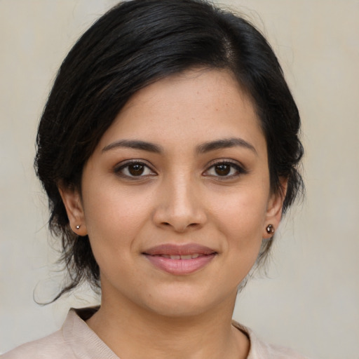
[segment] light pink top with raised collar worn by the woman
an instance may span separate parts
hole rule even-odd
[[[67,315],[64,325],[48,337],[22,344],[18,348],[0,355],[1,359],[119,359],[84,320],[90,318],[95,309],[78,311]],[[260,341],[252,330],[233,322],[250,339],[248,359],[306,359],[288,348],[272,346]]]

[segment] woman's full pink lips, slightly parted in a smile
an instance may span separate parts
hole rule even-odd
[[[203,268],[217,252],[198,244],[163,244],[143,253],[158,269],[177,276],[193,273]]]

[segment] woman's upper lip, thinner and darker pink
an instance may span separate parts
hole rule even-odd
[[[151,247],[143,252],[144,255],[213,255],[216,253],[212,248],[196,243],[183,245],[165,243]]]

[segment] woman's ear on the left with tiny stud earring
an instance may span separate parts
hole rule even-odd
[[[62,202],[65,205],[67,217],[71,229],[79,236],[87,235],[87,228],[85,222],[85,215],[83,212],[83,205],[81,203],[81,196],[77,189],[60,184],[58,186]]]

